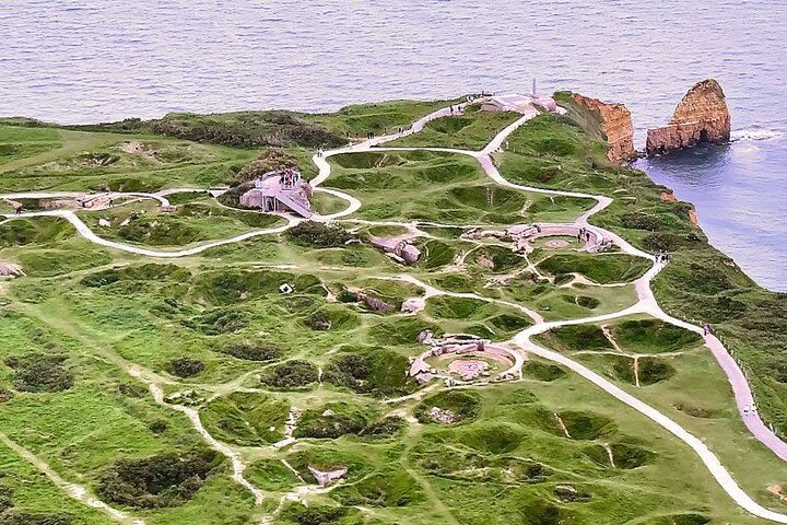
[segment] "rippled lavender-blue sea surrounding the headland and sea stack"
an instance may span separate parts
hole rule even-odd
[[[322,112],[486,90],[625,103],[637,143],[716,78],[736,141],[641,162],[787,291],[785,0],[0,0],[0,115]]]

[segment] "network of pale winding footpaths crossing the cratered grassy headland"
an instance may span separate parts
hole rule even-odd
[[[454,106],[457,107],[457,106]],[[461,106],[460,106],[461,107]],[[505,179],[501,173],[498,172],[497,167],[494,164],[494,161],[492,159],[492,153],[500,151],[502,145],[505,143],[507,137],[513,133],[516,129],[518,129],[520,126],[526,124],[531,118],[536,117],[538,115],[538,112],[535,107],[531,107],[529,110],[527,110],[521,118],[516,120],[515,122],[507,126],[505,129],[503,129],[500,133],[497,133],[492,141],[481,151],[470,151],[470,150],[461,150],[461,149],[454,149],[454,148],[397,148],[397,147],[383,147],[380,144],[384,144],[386,142],[389,142],[391,140],[396,140],[398,138],[412,135],[414,132],[420,131],[423,129],[423,127],[430,120],[433,120],[435,118],[444,117],[450,115],[449,108],[443,108],[437,112],[434,112],[430,115],[426,115],[425,117],[419,119],[415,121],[412,127],[402,133],[395,133],[389,136],[383,136],[378,138],[373,138],[371,140],[367,140],[365,142],[361,142],[359,144],[350,145],[346,148],[340,148],[336,150],[330,150],[324,152],[321,155],[315,155],[313,158],[313,162],[316,164],[316,166],[319,170],[319,174],[315,179],[312,180],[312,185],[315,188],[315,191],[322,191],[326,194],[330,194],[337,198],[341,198],[348,202],[348,207],[338,212],[330,215],[316,215],[314,220],[322,221],[322,222],[330,222],[337,219],[341,219],[343,217],[350,215],[357,211],[361,208],[361,202],[342,191],[338,191],[336,189],[331,188],[322,188],[320,185],[325,183],[328,177],[331,174],[331,167],[328,163],[328,159],[334,155],[339,154],[349,154],[349,153],[359,153],[359,152],[368,152],[368,151],[413,151],[413,150],[427,150],[427,151],[436,151],[436,152],[448,152],[448,153],[456,153],[456,154],[462,154],[462,155],[469,155],[474,158],[481,167],[483,168],[484,173],[496,184],[501,186],[505,186],[512,189],[520,190],[520,191],[528,191],[528,192],[537,192],[537,194],[545,194],[551,196],[564,196],[564,197],[573,197],[573,198],[582,198],[582,199],[592,199],[596,201],[596,205],[585,213],[583,213],[577,220],[574,222],[574,226],[578,228],[586,228],[590,230],[597,238],[601,238],[606,242],[611,242],[614,245],[616,245],[623,253],[642,257],[650,260],[653,262],[653,267],[639,279],[635,281],[635,289],[637,292],[637,302],[620,312],[606,314],[606,315],[599,315],[594,317],[586,317],[586,318],[578,318],[578,319],[568,319],[568,320],[560,320],[560,322],[544,322],[543,318],[536,312],[526,308],[525,306],[517,305],[514,303],[508,302],[501,302],[503,304],[506,304],[507,306],[514,306],[518,310],[520,310],[522,313],[528,315],[530,318],[533,319],[536,323],[535,325],[528,327],[527,329],[519,332],[517,336],[515,336],[510,341],[508,341],[508,345],[510,345],[512,348],[519,348],[522,349],[525,352],[530,352],[532,354],[539,355],[543,359],[548,359],[550,361],[553,361],[555,363],[559,363],[580,376],[583,376],[585,380],[594,383],[599,388],[608,393],[609,395],[613,396],[614,398],[619,399],[620,401],[624,402],[629,407],[633,408],[634,410],[637,410],[642,415],[646,416],[657,424],[661,425],[669,432],[671,432],[673,435],[676,435],[678,439],[686,443],[700,457],[700,459],[703,462],[703,464],[706,466],[710,475],[716,479],[718,485],[729,494],[729,497],[742,509],[747,510],[751,514],[762,517],[764,520],[770,520],[777,523],[784,523],[787,524],[787,515],[777,513],[774,511],[771,511],[768,509],[765,509],[764,506],[756,503],[751,497],[749,497],[736,482],[736,480],[732,478],[732,476],[729,474],[729,471],[721,465],[718,457],[695,435],[683,429],[680,424],[678,424],[676,421],[670,419],[669,417],[665,416],[663,413],[659,412],[657,409],[650,407],[649,405],[643,402],[642,400],[637,399],[636,397],[632,396],[631,394],[626,393],[619,386],[614,385],[607,378],[602,377],[601,375],[597,374],[596,372],[591,371],[587,366],[569,359],[566,355],[563,355],[559,352],[545,349],[543,347],[540,347],[536,345],[532,341],[532,338],[539,334],[543,334],[550,329],[557,328],[561,326],[567,326],[567,325],[579,325],[579,324],[591,324],[591,323],[603,323],[607,320],[615,319],[625,317],[629,315],[634,314],[646,314],[650,315],[655,318],[661,319],[666,323],[670,323],[672,325],[685,328],[688,330],[691,330],[693,332],[700,334],[703,336],[705,346],[712,351],[714,358],[721,366],[721,370],[727,375],[727,378],[729,380],[729,383],[732,387],[732,392],[735,395],[736,404],[738,406],[739,412],[741,415],[741,419],[743,420],[744,424],[749,429],[749,431],[761,443],[763,443],[766,447],[768,447],[774,454],[776,454],[779,458],[783,460],[787,460],[787,443],[783,442],[778,439],[760,419],[759,415],[756,412],[749,412],[748,410],[744,411],[744,408],[748,409],[749,407],[752,407],[754,405],[753,395],[751,393],[751,389],[749,387],[749,384],[747,382],[747,378],[741,371],[741,369],[738,366],[738,364],[735,362],[732,357],[727,352],[727,350],[724,348],[721,342],[713,335],[705,336],[703,334],[702,328],[685,323],[683,320],[677,319],[667,313],[665,313],[661,307],[658,305],[656,298],[653,293],[650,283],[653,279],[658,275],[658,272],[663,268],[662,264],[657,264],[655,258],[638,248],[635,248],[632,246],[629,242],[626,242],[621,236],[607,231],[604,229],[595,226],[589,223],[589,220],[592,215],[596,213],[602,211],[604,208],[610,206],[613,201],[612,198],[607,196],[597,196],[597,195],[589,195],[589,194],[582,194],[582,192],[575,192],[575,191],[562,191],[562,190],[551,190],[551,189],[543,189],[543,188],[535,188],[530,186],[522,186],[515,183],[512,183],[507,179]],[[162,206],[168,206],[167,196],[175,194],[175,192],[184,192],[184,191],[204,191],[203,189],[193,189],[193,188],[181,188],[181,189],[174,189],[174,190],[164,190],[160,191],[158,194],[113,194],[115,197],[136,197],[136,198],[149,198],[149,199],[155,199]],[[13,199],[13,198],[47,198],[45,196],[49,197],[73,197],[74,195],[83,195],[83,194],[67,194],[67,192],[59,192],[59,194],[9,194],[9,195],[0,195],[0,199]],[[0,215],[2,217],[2,215]],[[149,256],[149,257],[185,257],[190,255],[196,255],[201,252],[204,252],[205,249],[209,249],[211,247],[232,244],[232,243],[238,243],[258,235],[269,235],[269,234],[277,234],[286,231],[287,229],[292,228],[293,225],[301,222],[299,219],[287,219],[287,223],[277,228],[270,228],[266,230],[259,230],[249,232],[243,235],[238,235],[232,238],[222,240],[222,241],[215,241],[207,244],[202,244],[199,246],[186,248],[186,249],[178,249],[178,250],[151,250],[146,248],[141,248],[138,246],[127,245],[124,243],[118,243],[114,241],[105,240],[95,233],[73,212],[70,210],[52,210],[52,211],[42,211],[42,212],[31,212],[31,213],[23,213],[21,215],[12,215],[12,214],[5,214],[4,215],[7,220],[13,220],[19,217],[25,218],[25,217],[60,217],[66,220],[68,220],[71,224],[74,225],[78,233],[82,235],[84,238],[110,248],[120,249],[129,253],[134,253],[138,255]],[[0,224],[7,221],[0,221]],[[363,221],[359,221],[363,222]],[[413,226],[414,228],[414,226]],[[482,296],[478,296],[475,294],[453,294],[449,292],[437,290],[433,287],[430,287],[428,284],[419,281],[418,279],[411,277],[411,276],[399,276],[397,278],[392,279],[399,279],[404,280],[408,282],[411,282],[415,285],[419,285],[423,288],[427,295],[442,295],[442,294],[451,294],[457,296],[472,296],[473,299],[483,299],[489,300]],[[493,302],[498,302],[497,300],[489,300]],[[518,366],[517,372],[520,371],[521,368],[521,360],[517,361],[516,365]],[[145,381],[145,377],[140,377],[143,381]],[[145,381],[148,385],[150,386],[151,390],[153,392],[153,395],[156,399],[156,402],[164,402],[162,398],[162,394],[157,385],[155,383]],[[179,409],[179,408],[178,408]],[[201,422],[199,421],[199,415],[193,409],[187,409],[186,407],[183,407],[181,410],[186,416],[191,420],[192,424],[197,428],[197,430],[200,432],[200,434],[203,436],[203,439],[214,448],[222,452],[224,455],[231,458],[233,462],[233,469],[234,469],[234,476],[233,478],[244,487],[246,487],[248,490],[250,490],[254,495],[255,500],[259,504],[262,500],[262,492],[255,488],[251,483],[249,483],[244,477],[243,477],[243,470],[245,468],[245,465],[243,464],[239,455],[237,452],[233,451],[228,446],[220,443],[219,441],[214,440],[210,434],[201,427]],[[9,446],[11,444],[7,443]],[[37,464],[36,464],[37,465]],[[37,465],[38,466],[38,465]],[[40,468],[40,466],[39,466]],[[52,478],[54,472],[47,472],[45,471],[50,478]],[[56,476],[56,475],[55,475]],[[62,481],[62,480],[60,480]],[[64,481],[62,482],[64,483]],[[62,485],[58,483],[58,485]],[[73,494],[72,494],[73,495]],[[109,511],[108,509],[104,509],[105,512]],[[111,513],[111,511],[109,511]],[[114,516],[116,518],[125,520],[126,516]]]

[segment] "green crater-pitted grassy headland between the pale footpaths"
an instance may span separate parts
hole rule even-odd
[[[128,198],[77,214],[129,246],[196,247],[284,224],[207,192],[236,187],[254,162],[292,163],[313,178],[317,148],[457,102],[68,128],[4,119],[0,194],[193,188],[171,197],[174,212]],[[387,145],[480,150],[515,118],[442,117]],[[604,152],[577,122],[539,115],[494,161],[513,183],[613,197],[591,222],[670,252],[655,281],[660,304],[712,323],[766,420],[787,431],[787,295],[756,287],[709,246],[691,205],[663,199],[666,188]],[[426,348],[422,330],[506,341],[533,323],[517,306],[565,320],[634,304],[645,259],[587,254],[574,237],[539,240],[525,256],[461,236],[470,226],[573,222],[592,200],[498,186],[462,154],[373,149],[328,162],[324,186],[357,198],[355,213],[185,257],[101,246],[59,217],[0,218],[0,262],[24,271],[0,280],[0,524],[115,523],[47,470],[151,525],[767,523],[738,508],[683,442],[564,366],[531,355],[521,380],[455,388],[408,377],[409,358]],[[346,206],[315,197],[321,213]],[[35,211],[49,199],[22,200]],[[0,212],[11,206],[0,200]],[[428,236],[414,240],[422,257],[411,267],[353,242],[401,235],[413,222]],[[454,295],[426,296],[397,280],[403,273]],[[413,298],[424,308],[401,313]],[[637,315],[563,326],[538,342],[701,436],[755,501],[787,512],[767,490],[787,483],[783,464],[748,433],[698,336]],[[454,419],[441,422],[435,409]],[[189,411],[246,465],[260,504]],[[272,446],[290,434],[293,443]],[[314,489],[315,470],[338,468],[340,482]]]

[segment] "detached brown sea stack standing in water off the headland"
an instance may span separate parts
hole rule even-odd
[[[678,104],[669,125],[649,129],[646,152],[663,155],[700,144],[721,144],[730,138],[727,100],[718,82],[703,80]]]

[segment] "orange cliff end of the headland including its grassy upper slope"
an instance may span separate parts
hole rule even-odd
[[[586,131],[609,144],[607,159],[621,164],[636,159],[631,112],[623,104],[606,103],[579,93],[555,93],[555,100]]]

